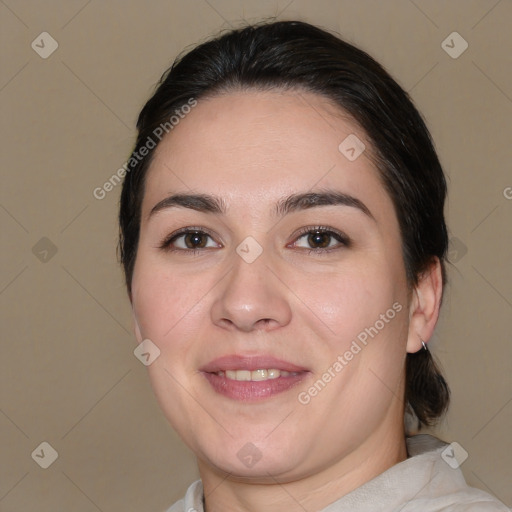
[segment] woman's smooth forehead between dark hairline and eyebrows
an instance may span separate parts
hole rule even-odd
[[[357,141],[366,149],[353,159],[346,150],[355,142],[358,153]],[[199,100],[155,150],[143,215],[169,193],[191,191],[246,211],[315,187],[389,203],[370,152],[364,131],[311,92],[252,90]]]

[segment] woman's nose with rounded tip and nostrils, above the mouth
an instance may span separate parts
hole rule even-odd
[[[211,308],[213,323],[243,332],[287,325],[292,317],[288,290],[263,255],[252,263],[238,255],[234,259],[231,272],[217,287]]]

